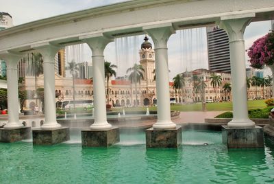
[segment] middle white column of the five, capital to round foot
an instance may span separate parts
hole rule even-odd
[[[93,75],[93,101],[95,106],[95,122],[90,129],[108,129],[112,125],[107,121],[107,111],[105,104],[105,60],[103,50],[112,40],[103,36],[103,34],[82,36],[84,42],[92,50],[92,75]]]

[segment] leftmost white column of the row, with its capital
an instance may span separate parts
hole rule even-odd
[[[18,77],[17,63],[21,59],[21,55],[5,54],[1,58],[5,60],[7,65],[7,86],[8,86],[8,124],[5,129],[21,128],[23,124],[19,123],[18,114]]]

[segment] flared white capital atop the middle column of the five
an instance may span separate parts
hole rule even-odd
[[[113,38],[105,36],[102,33],[79,36],[79,40],[82,40],[88,44],[92,50],[92,56],[103,56],[103,50],[105,47],[108,43],[114,41]]]

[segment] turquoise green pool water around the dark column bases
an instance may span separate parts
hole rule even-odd
[[[219,132],[183,131],[179,149],[149,149],[145,133],[110,148],[82,148],[79,132],[56,146],[0,143],[0,183],[274,183],[274,147],[227,150]],[[208,143],[208,146],[203,145]]]

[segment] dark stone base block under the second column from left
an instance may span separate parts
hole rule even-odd
[[[32,130],[32,139],[34,145],[53,145],[69,141],[69,128],[52,128],[44,130],[42,128],[34,128]]]

